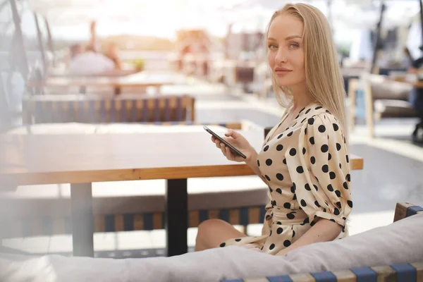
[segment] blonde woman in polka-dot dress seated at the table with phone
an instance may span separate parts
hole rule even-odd
[[[269,185],[262,235],[247,237],[221,220],[200,224],[196,250],[240,245],[285,255],[303,245],[345,237],[353,207],[345,127],[345,90],[331,27],[321,11],[288,4],[272,16],[267,58],[281,122],[255,149],[239,133],[226,140],[247,159],[212,137],[232,161],[245,161]]]

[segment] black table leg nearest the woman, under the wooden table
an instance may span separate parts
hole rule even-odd
[[[168,257],[188,250],[188,180],[168,179],[166,185],[166,252]]]

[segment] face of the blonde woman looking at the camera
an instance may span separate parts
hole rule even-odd
[[[276,16],[269,27],[267,59],[281,87],[305,83],[303,29],[301,20],[286,14]]]

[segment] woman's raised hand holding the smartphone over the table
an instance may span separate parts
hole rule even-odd
[[[243,157],[238,156],[238,154],[235,154],[229,147],[224,145],[223,142],[220,142],[219,139],[212,136],[212,142],[214,142],[216,147],[221,149],[221,152],[226,159],[238,162],[245,161],[247,164],[252,161],[252,159],[257,159],[257,152],[255,152],[255,149],[250,145],[245,137],[243,137],[243,135],[240,135],[240,133],[235,130],[229,129],[228,132],[225,133],[225,136],[226,137],[222,137],[223,140],[233,145],[233,147],[238,149],[241,153],[245,154],[245,157],[247,157],[247,159],[244,159]]]

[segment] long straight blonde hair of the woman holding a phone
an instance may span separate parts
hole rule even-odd
[[[319,9],[308,4],[286,4],[271,17],[266,30],[273,20],[280,15],[295,16],[304,24],[302,34],[305,49],[305,78],[312,97],[338,119],[347,135],[345,118],[345,89],[338,54],[332,38],[328,20]],[[281,106],[291,106],[293,94],[289,87],[279,87],[271,73],[274,93]]]

